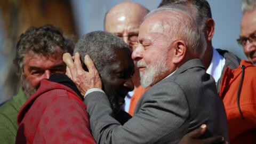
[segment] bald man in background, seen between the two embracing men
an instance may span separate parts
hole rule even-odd
[[[140,24],[149,10],[135,2],[122,2],[113,6],[105,15],[104,29],[120,38],[134,50],[138,43]],[[135,65],[135,72],[132,76],[134,90],[125,97],[123,109],[133,115],[135,106],[141,95],[147,90],[140,86],[140,76]]]

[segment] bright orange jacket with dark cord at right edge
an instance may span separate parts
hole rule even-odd
[[[227,113],[230,143],[256,143],[256,67],[245,60],[236,69],[227,67],[220,97]]]

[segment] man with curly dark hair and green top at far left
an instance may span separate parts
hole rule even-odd
[[[19,93],[0,107],[1,143],[15,142],[21,106],[35,93],[42,79],[55,73],[66,73],[62,54],[72,53],[73,47],[73,42],[64,38],[61,30],[52,25],[31,27],[21,34],[14,64],[22,85]]]

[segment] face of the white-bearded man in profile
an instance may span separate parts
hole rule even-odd
[[[132,53],[140,71],[141,85],[147,87],[161,81],[174,71],[170,37],[164,33],[162,22],[155,14],[147,18],[139,29],[139,45]]]

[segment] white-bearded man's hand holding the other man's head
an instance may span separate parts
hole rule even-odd
[[[67,65],[67,76],[76,84],[82,95],[92,88],[102,89],[98,70],[89,55],[84,57],[84,64],[89,71],[83,69],[79,53],[76,53],[73,58],[69,53],[65,53],[63,54],[63,61]]]

